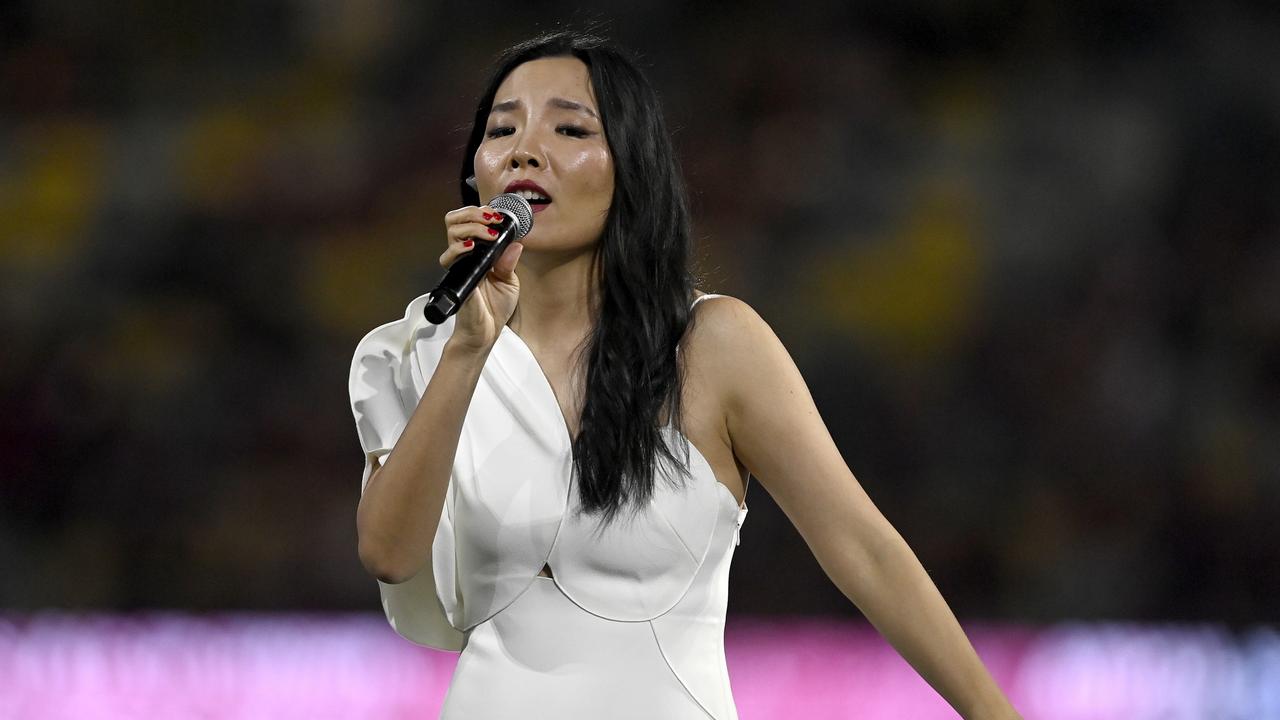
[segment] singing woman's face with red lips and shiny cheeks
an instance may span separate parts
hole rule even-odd
[[[586,65],[541,58],[516,67],[494,95],[475,172],[481,202],[534,196],[526,252],[594,246],[613,200],[613,158]]]

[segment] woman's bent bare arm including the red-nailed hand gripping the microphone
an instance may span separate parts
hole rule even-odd
[[[440,255],[443,266],[471,251],[466,241],[486,233],[497,218],[490,211],[471,206],[445,215],[449,246]],[[489,351],[520,299],[515,270],[522,250],[518,242],[507,247],[458,309],[453,334],[417,407],[387,462],[375,466],[365,484],[356,510],[360,562],[384,583],[408,580],[431,557],[462,420]]]

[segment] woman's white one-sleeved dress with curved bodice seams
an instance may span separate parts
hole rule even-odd
[[[356,350],[362,483],[396,446],[453,332],[453,318],[424,319],[425,302]],[[599,529],[577,512],[550,383],[502,329],[462,425],[431,566],[379,583],[397,633],[462,651],[442,717],[737,717],[724,609],[746,507],[687,438],[669,427],[667,438],[677,454],[689,448],[682,487],[659,475],[641,512]],[[539,575],[544,565],[553,578]]]

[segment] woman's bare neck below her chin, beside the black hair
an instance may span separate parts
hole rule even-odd
[[[530,347],[576,346],[593,327],[591,252],[520,256],[520,304],[507,325]]]

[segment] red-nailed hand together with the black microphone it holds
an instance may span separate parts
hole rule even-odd
[[[529,201],[513,193],[445,214],[449,247],[440,265],[448,272],[431,291],[424,314],[434,324],[457,314],[451,342],[475,351],[488,351],[497,342],[520,299],[515,268],[524,246],[517,241],[532,223]],[[472,295],[474,302],[468,301]]]

